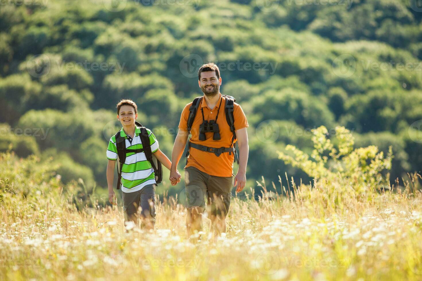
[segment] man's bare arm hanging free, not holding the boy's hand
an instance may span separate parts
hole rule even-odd
[[[246,127],[236,130],[236,137],[239,144],[239,170],[236,174],[233,186],[239,184],[236,188],[236,192],[241,192],[246,185],[246,165],[248,163],[249,155],[248,132],[246,131]]]

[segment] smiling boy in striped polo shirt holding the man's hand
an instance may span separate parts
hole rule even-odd
[[[135,125],[138,118],[138,107],[131,99],[123,99],[117,104],[117,119],[122,123],[121,136],[125,138],[126,152],[142,148],[141,130]],[[158,148],[154,134],[146,129],[149,135],[151,152],[167,169],[171,162]],[[107,184],[108,201],[116,205],[116,195],[113,190],[114,166],[117,160],[116,136],[112,136],[107,148]],[[179,174],[180,176],[180,174]],[[170,178],[175,185],[178,179]],[[141,227],[154,230],[155,225],[155,174],[151,163],[146,160],[145,153],[135,153],[127,156],[122,167],[122,198],[125,225],[128,221],[138,224],[138,208],[141,207]]]

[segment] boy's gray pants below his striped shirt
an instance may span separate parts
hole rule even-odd
[[[155,225],[155,187],[146,185],[141,190],[125,193],[123,197],[124,221],[133,221],[138,225],[138,209],[141,207],[141,227],[147,226],[154,229]]]

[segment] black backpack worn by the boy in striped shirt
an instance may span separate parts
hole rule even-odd
[[[125,138],[120,136],[120,131],[116,133],[116,147],[117,147],[117,155],[119,156],[119,165],[117,166],[117,172],[119,174],[119,177],[117,179],[117,189],[120,189],[120,184],[122,181],[122,167],[124,162],[126,161],[126,153],[134,152],[134,153],[145,153],[146,160],[151,163],[152,169],[154,169],[155,174],[155,182],[159,184],[162,182],[162,164],[158,159],[152,155],[151,152],[151,145],[149,145],[149,136],[148,132],[146,131],[146,128],[141,125],[138,121],[135,121],[135,125],[138,126],[141,129],[141,134],[139,135],[141,137],[142,142],[142,148],[140,149],[128,149],[126,150],[126,144],[125,144]]]

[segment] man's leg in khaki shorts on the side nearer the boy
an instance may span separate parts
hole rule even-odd
[[[196,169],[187,167],[185,169],[185,186],[187,198],[186,229],[188,236],[195,233],[195,230],[202,231],[202,214],[206,204],[207,187],[205,185],[209,175]]]

